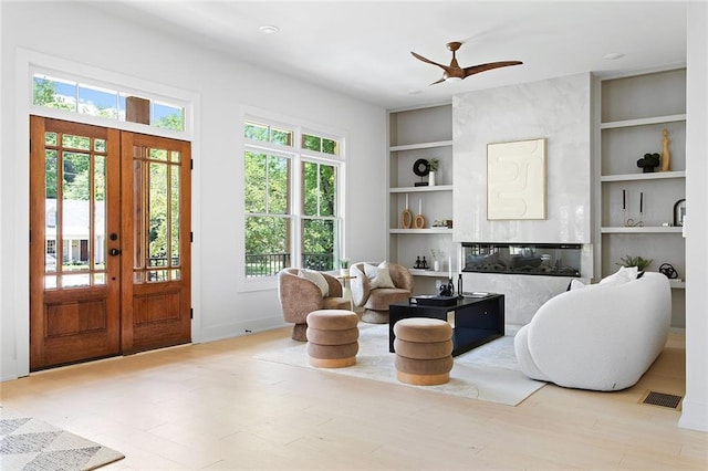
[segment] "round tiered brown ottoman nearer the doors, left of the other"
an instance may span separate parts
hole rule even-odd
[[[310,365],[342,368],[356,364],[358,316],[352,311],[320,310],[308,314]]]

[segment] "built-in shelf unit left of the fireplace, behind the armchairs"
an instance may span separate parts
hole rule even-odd
[[[436,186],[416,186],[427,181],[413,166],[418,159],[438,158]],[[416,293],[430,293],[436,279],[447,279],[449,258],[457,262],[459,248],[452,243],[452,229],[436,227],[435,221],[452,219],[452,106],[449,103],[388,112],[388,247],[391,261],[408,266],[416,276]],[[402,212],[415,218],[421,209],[423,229],[404,229]],[[438,271],[416,270],[416,258],[426,258],[433,266],[431,250],[440,254]],[[456,269],[454,268],[456,273]]]

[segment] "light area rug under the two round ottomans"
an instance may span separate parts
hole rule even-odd
[[[256,356],[301,368],[320,369],[336,375],[373,379],[412,388],[471,399],[518,406],[545,386],[521,373],[513,352],[513,328],[507,335],[455,357],[450,380],[438,386],[412,386],[396,379],[394,354],[388,353],[388,325],[361,324],[356,365],[346,368],[315,368],[308,362],[306,343]],[[294,341],[293,341],[294,343]]]

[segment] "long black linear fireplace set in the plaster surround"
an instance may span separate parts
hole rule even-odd
[[[580,278],[581,244],[462,242],[462,271]]]

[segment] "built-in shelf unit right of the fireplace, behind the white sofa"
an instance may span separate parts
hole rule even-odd
[[[598,91],[595,278],[615,272],[627,254],[653,260],[652,271],[670,263],[679,275],[670,280],[671,323],[683,326],[686,249],[683,228],[673,223],[674,205],[686,197],[686,70],[605,77]],[[663,154],[663,129],[668,130],[670,169],[645,174],[637,160]],[[635,226],[639,219],[642,226]]]

